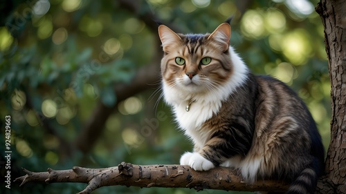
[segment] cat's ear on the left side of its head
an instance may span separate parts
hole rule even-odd
[[[161,39],[163,51],[165,52],[167,52],[167,49],[172,45],[172,43],[181,41],[181,37],[165,25],[158,26],[158,36]]]

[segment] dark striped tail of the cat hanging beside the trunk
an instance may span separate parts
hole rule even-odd
[[[313,194],[316,190],[317,180],[321,173],[322,166],[316,158],[295,178],[285,194]]]

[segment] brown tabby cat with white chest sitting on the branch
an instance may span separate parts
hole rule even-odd
[[[253,75],[230,46],[230,32],[228,22],[206,35],[158,26],[163,96],[194,143],[180,164],[234,167],[248,183],[285,180],[286,193],[313,193],[325,165],[311,113],[282,81]]]

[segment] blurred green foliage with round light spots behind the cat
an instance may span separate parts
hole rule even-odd
[[[133,2],[133,1],[131,1]],[[256,74],[289,84],[309,106],[329,144],[329,75],[317,0],[147,0],[139,12],[118,1],[3,1],[0,20],[0,126],[11,116],[11,177],[30,171],[101,168],[122,161],[176,164],[192,148],[176,130],[170,109],[152,90],[118,104],[89,153],[66,153],[101,101],[117,102],[116,84],[158,63],[156,30],[138,15],[149,12],[181,32],[212,32],[231,14],[231,44]],[[243,9],[243,10],[241,10]],[[159,66],[159,64],[157,64]],[[5,138],[0,139],[4,161]],[[88,144],[88,142],[85,142]],[[1,163],[1,176],[4,173]],[[3,183],[1,183],[3,184]],[[84,184],[13,183],[11,193],[77,193]],[[1,186],[2,187],[2,186]],[[8,193],[9,190],[6,190]],[[183,188],[111,186],[94,193],[195,193]],[[199,193],[226,193],[202,191]]]

